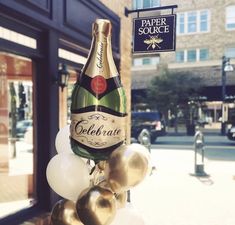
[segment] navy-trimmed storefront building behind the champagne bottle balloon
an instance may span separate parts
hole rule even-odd
[[[131,19],[124,15],[130,5],[0,0],[0,224],[48,224],[48,216],[38,215],[50,212],[59,196],[47,183],[46,167],[57,153],[56,134],[68,123],[72,86],[96,18],[112,22],[113,56],[130,109]],[[62,91],[63,68],[70,78]]]

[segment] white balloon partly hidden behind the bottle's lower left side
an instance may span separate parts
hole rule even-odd
[[[55,138],[55,147],[58,153],[72,153],[70,145],[70,125],[61,128]]]

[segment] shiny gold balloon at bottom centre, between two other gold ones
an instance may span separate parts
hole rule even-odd
[[[111,191],[93,186],[79,196],[76,209],[84,225],[108,225],[116,215],[116,200]]]

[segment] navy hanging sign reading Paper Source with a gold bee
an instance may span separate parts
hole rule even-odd
[[[175,14],[136,18],[133,26],[134,53],[175,51]]]

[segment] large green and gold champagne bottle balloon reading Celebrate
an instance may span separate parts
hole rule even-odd
[[[70,140],[75,154],[106,160],[125,141],[126,96],[111,45],[111,22],[97,19],[86,64],[72,92]]]

